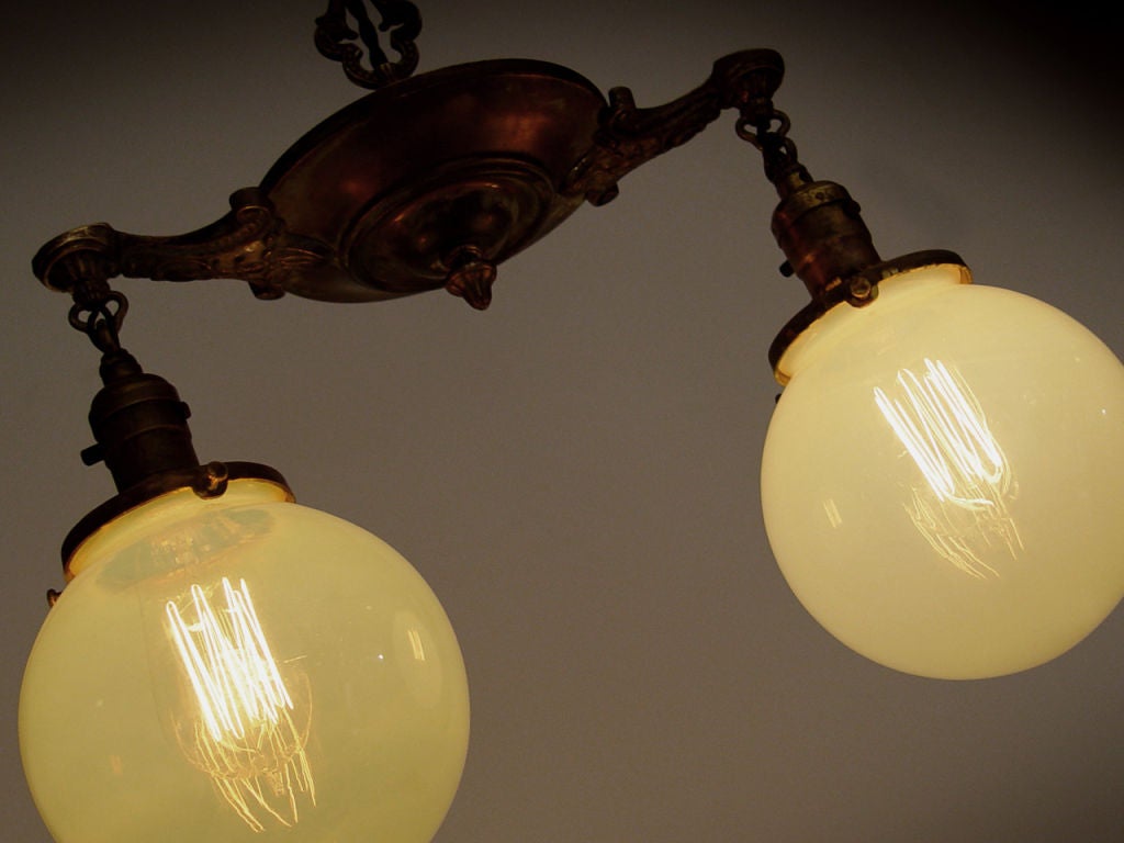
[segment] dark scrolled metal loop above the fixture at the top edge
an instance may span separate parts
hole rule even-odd
[[[418,64],[418,49],[414,39],[422,31],[422,15],[407,0],[372,0],[382,16],[377,27],[371,22],[364,0],[329,0],[327,11],[316,19],[316,48],[320,55],[339,62],[344,73],[361,88],[375,90],[407,79]],[[347,15],[355,20],[356,29],[347,24]],[[391,62],[379,44],[379,31],[390,31],[390,46],[400,58]],[[355,44],[362,39],[366,46],[370,70],[363,66],[363,49]]]

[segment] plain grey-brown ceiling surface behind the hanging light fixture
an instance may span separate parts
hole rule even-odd
[[[97,354],[30,257],[81,224],[178,234],[219,217],[361,94],[312,46],[321,11],[197,0],[7,15],[6,841],[49,841],[20,771],[20,674],[43,593],[62,584],[63,535],[112,493],[78,459]],[[979,283],[1055,303],[1124,353],[1112,12],[800,0],[422,12],[420,70],[535,57],[627,84],[642,106],[696,87],[726,53],[777,48],[801,160],[850,189],[883,255],[953,250]],[[765,348],[805,293],[777,273],[776,200],[733,124],[505,263],[486,312],[442,292],[343,307],[123,280],[123,342],[191,404],[203,460],[277,466],[301,502],[382,536],[439,596],[473,717],[439,843],[1121,840],[1120,611],[1037,670],[939,682],[854,655],[785,586],[758,493],[778,390]]]

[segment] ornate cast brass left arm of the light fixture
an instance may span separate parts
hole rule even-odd
[[[254,294],[275,299],[285,281],[302,269],[323,266],[332,250],[285,230],[259,188],[230,197],[230,211],[205,228],[173,237],[118,232],[106,224],[82,226],[55,237],[36,254],[35,274],[47,287],[72,291],[91,278],[148,278],[246,281]]]

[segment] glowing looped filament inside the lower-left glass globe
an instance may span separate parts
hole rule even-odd
[[[187,734],[178,731],[180,744],[251,828],[265,827],[255,806],[292,825],[297,792],[316,804],[305,754],[309,706],[298,706],[282,680],[245,580],[234,588],[224,577],[221,589],[226,606],[216,609],[192,586],[190,619],[174,602],[164,607],[198,713]],[[307,696],[307,680],[300,690]]]

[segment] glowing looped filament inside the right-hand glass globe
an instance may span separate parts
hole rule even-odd
[[[981,554],[998,540],[1012,558],[1022,547],[1007,508],[1016,489],[1007,457],[976,396],[940,361],[921,375],[898,371],[903,397],[874,389],[874,402],[925,480],[906,510],[933,549],[973,577],[998,575]]]

